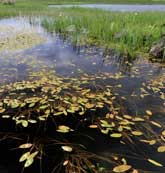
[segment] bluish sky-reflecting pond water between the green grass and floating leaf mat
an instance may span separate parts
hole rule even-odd
[[[160,9],[163,10],[163,8]],[[6,50],[0,51],[1,85],[29,80],[31,72],[39,72],[43,69],[47,71],[51,69],[54,74],[69,78],[84,74],[94,75],[96,77],[95,82],[100,87],[104,87],[105,84],[111,85],[116,97],[121,100],[123,110],[136,115],[143,115],[145,110],[151,110],[153,114],[156,114],[154,117],[156,121],[165,123],[164,100],[160,99],[159,92],[145,91],[147,84],[149,86],[153,80],[157,81],[165,76],[163,64],[152,63],[143,57],[135,59],[121,57],[115,53],[109,53],[103,48],[73,46],[68,39],[64,39],[55,33],[47,33],[41,27],[40,21],[41,19],[38,18],[30,20],[22,17],[0,20],[0,28],[6,26],[21,32],[22,29],[28,27],[28,30],[33,30],[33,32],[45,38],[43,43],[33,45],[31,48],[8,50],[8,47],[6,47]],[[9,33],[4,30],[0,31],[0,34],[4,37],[5,34],[10,33],[10,31]],[[97,80],[100,75],[102,79]],[[107,79],[104,79],[105,75]],[[116,76],[116,79],[109,79],[110,76]],[[118,76],[122,76],[122,78]],[[163,92],[165,91],[164,84],[161,88]],[[157,86],[153,84],[153,87]],[[87,131],[87,133],[90,132]],[[141,155],[146,157],[147,153],[153,159],[165,163],[164,155],[158,154],[150,147],[145,148],[144,151],[138,151],[137,148],[132,148],[132,151],[129,151],[127,147],[122,147],[120,144],[109,147],[109,143],[105,142],[105,139],[102,140],[101,138],[99,141],[95,146],[92,143],[89,148],[96,153],[104,153],[104,155],[109,152],[118,152],[135,157],[134,152],[137,152],[137,159],[132,161],[135,166],[139,164],[144,169],[154,170],[158,173],[164,173],[165,171],[164,167],[159,168],[147,163],[144,164],[143,160],[138,159]]]

